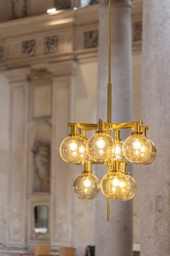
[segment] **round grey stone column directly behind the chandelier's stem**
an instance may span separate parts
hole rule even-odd
[[[112,111],[114,122],[132,120],[132,31],[131,1],[112,1]],[[101,0],[99,27],[98,118],[106,120],[108,82],[108,1]],[[104,167],[96,173],[103,176]],[[96,201],[96,255],[132,255],[132,202],[112,202],[111,220],[106,221],[106,199]]]

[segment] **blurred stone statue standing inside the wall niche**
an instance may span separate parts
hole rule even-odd
[[[34,191],[50,191],[50,144],[35,141],[32,152],[34,157]]]

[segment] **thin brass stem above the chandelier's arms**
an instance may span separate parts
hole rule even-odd
[[[109,80],[107,87],[107,122],[111,123],[111,0],[109,0]]]

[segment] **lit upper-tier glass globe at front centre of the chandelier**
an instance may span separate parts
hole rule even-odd
[[[113,157],[114,140],[107,133],[95,133],[88,139],[87,152],[91,160],[103,162]]]

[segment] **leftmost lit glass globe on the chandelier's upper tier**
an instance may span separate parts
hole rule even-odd
[[[60,145],[60,154],[65,162],[80,163],[86,158],[86,141],[79,136],[68,136]]]

